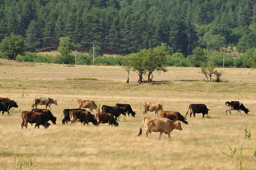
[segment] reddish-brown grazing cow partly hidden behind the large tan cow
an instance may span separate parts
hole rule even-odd
[[[187,118],[183,117],[181,115],[181,113],[179,113],[179,112],[159,110],[158,111],[158,115],[161,118],[169,118],[170,120],[173,120],[173,121],[177,121],[178,120],[178,121],[182,121],[184,124],[188,124]]]

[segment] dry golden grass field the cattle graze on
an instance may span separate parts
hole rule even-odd
[[[256,71],[224,71],[224,83],[205,82],[198,68],[169,67],[154,73],[154,82],[137,84],[136,73],[117,66],[67,66],[22,63],[0,59],[0,97],[14,99],[19,108],[0,116],[1,169],[255,169]],[[22,129],[22,111],[30,111],[33,97],[57,98],[52,105],[57,124],[49,129]],[[62,125],[62,111],[77,108],[77,99],[91,99],[101,107],[129,103],[136,117],[120,116],[119,126],[76,123]],[[249,115],[225,114],[225,101],[238,100]],[[138,137],[143,103],[158,102],[183,116],[191,103],[204,103],[208,118],[187,115],[183,131],[171,132],[171,141],[159,133]],[[44,106],[39,106],[44,108]],[[92,112],[93,114],[96,111]],[[153,117],[153,112],[148,116]],[[246,124],[247,122],[247,124]],[[251,122],[251,138],[245,128]],[[236,152],[232,155],[230,151]],[[226,152],[226,155],[223,152]],[[233,156],[233,158],[232,158]],[[241,165],[240,165],[241,163]]]

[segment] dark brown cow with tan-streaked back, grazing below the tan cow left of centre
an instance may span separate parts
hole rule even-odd
[[[88,111],[73,110],[69,112],[71,126],[75,121],[83,122],[83,125],[89,122],[92,122],[95,126],[98,125],[98,122],[95,119],[95,116]]]

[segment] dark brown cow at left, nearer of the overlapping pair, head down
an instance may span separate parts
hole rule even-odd
[[[23,126],[28,128],[28,123],[36,124],[35,128],[39,129],[39,125],[43,125],[45,129],[47,129],[51,124],[49,124],[44,116],[43,113],[37,113],[37,112],[30,112],[30,111],[23,111],[22,112],[22,129]]]

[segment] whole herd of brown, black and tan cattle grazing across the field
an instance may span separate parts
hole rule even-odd
[[[72,125],[74,122],[78,121],[83,123],[83,125],[88,125],[89,122],[92,122],[95,126],[106,123],[109,125],[119,126],[116,120],[120,114],[125,115],[127,113],[128,116],[131,114],[132,117],[135,117],[136,114],[129,104],[117,103],[115,107],[103,105],[102,112],[100,112],[100,108],[97,107],[93,100],[78,99],[77,103],[78,108],[64,109],[64,118],[62,120],[62,124],[65,125],[70,122]],[[47,107],[49,107],[51,110],[51,104],[57,105],[57,101],[49,97],[34,97],[32,110],[22,112],[22,129],[24,126],[27,128],[28,123],[35,124],[35,128],[39,128],[39,125],[42,125],[46,129],[49,127],[49,125],[51,125],[48,122],[50,120],[54,125],[56,125],[57,117],[54,117],[51,111],[47,109]],[[37,105],[46,105],[46,107],[45,109],[37,109]],[[36,108],[34,109],[34,107]],[[226,113],[229,112],[230,114],[231,111],[235,110],[237,110],[237,113],[240,112],[240,115],[241,111],[244,111],[246,114],[249,112],[249,109],[245,108],[240,101],[226,101],[225,107]],[[14,100],[10,100],[9,98],[0,97],[0,111],[2,111],[2,114],[5,112],[9,114],[9,110],[11,108],[18,108],[16,102]],[[89,111],[82,108],[89,108]],[[95,115],[91,114],[93,110],[98,113]],[[190,111],[190,117],[192,113],[194,117],[195,113],[202,113],[204,117],[204,114],[208,114],[209,109],[205,104],[190,104],[188,111]],[[188,111],[186,115],[188,114]],[[142,124],[145,126],[146,137],[148,137],[148,133],[151,133],[152,131],[160,131],[160,136],[158,139],[161,138],[162,133],[167,134],[170,138],[170,133],[172,130],[182,130],[180,121],[182,121],[184,124],[188,124],[187,119],[183,117],[181,113],[175,111],[163,111],[162,105],[158,103],[145,102],[143,114],[147,112],[154,112],[154,116],[158,114],[158,117],[144,117],[141,122],[139,135],[141,135]]]

